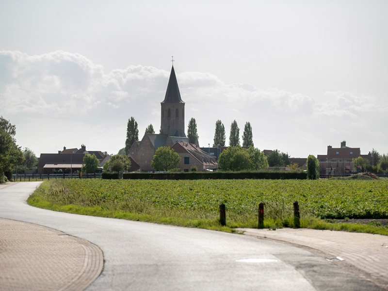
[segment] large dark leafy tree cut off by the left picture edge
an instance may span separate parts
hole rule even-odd
[[[24,161],[21,148],[16,145],[16,127],[0,117],[0,182],[4,180],[4,173],[11,178],[12,167]]]

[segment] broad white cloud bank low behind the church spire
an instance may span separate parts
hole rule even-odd
[[[331,143],[328,140],[356,139],[360,134],[373,139],[371,148],[378,147],[376,137],[381,145],[388,142],[380,125],[386,122],[388,104],[376,104],[369,96],[328,91],[319,99],[249,83],[226,84],[206,72],[180,73],[176,68],[176,73],[186,102],[186,125],[191,117],[196,119],[200,143],[205,145],[212,142],[217,119],[224,123],[227,135],[233,120],[238,122],[241,135],[249,121],[255,146],[279,148],[296,156],[324,153]],[[80,140],[80,145],[98,144],[99,150],[117,152],[124,146],[129,117],[138,122],[140,138],[150,123],[155,129],[160,127],[160,102],[169,74],[142,65],[105,72],[86,57],[65,51],[42,55],[0,51],[0,115],[17,127],[39,120],[39,124],[50,124],[51,131],[59,128],[65,132],[65,136],[50,133],[47,139],[54,145],[43,146],[42,139],[34,140],[29,130],[18,130],[21,145],[33,148],[32,143],[37,152],[77,146],[66,143],[71,132],[87,139]],[[76,134],[78,129],[81,133]],[[85,134],[82,129],[90,132]],[[110,132],[121,135],[108,138]]]

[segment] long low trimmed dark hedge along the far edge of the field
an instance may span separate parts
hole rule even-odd
[[[177,172],[177,173],[125,173],[123,179],[306,179],[306,172]]]

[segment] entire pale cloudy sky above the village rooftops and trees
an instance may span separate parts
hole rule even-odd
[[[174,56],[185,127],[221,120],[291,157],[388,153],[386,0],[0,0],[0,115],[16,142],[116,154],[161,105]]]

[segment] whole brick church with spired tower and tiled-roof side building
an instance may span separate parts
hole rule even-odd
[[[178,169],[190,172],[195,165],[198,171],[214,170],[218,163],[214,156],[199,148],[196,138],[188,138],[185,134],[185,102],[180,97],[174,65],[171,68],[166,95],[161,102],[161,132],[146,133],[141,141],[136,141],[129,149],[131,169],[140,172],[154,172],[151,162],[156,150],[168,146],[180,157]]]

